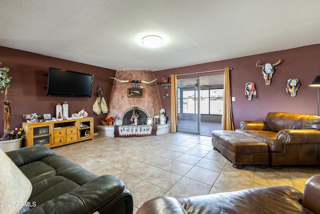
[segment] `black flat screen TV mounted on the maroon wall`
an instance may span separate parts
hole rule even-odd
[[[47,96],[91,97],[93,74],[49,67]]]

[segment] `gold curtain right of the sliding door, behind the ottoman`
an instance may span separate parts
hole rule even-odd
[[[234,130],[232,121],[232,107],[230,96],[229,67],[224,68],[224,94],[223,94],[222,130]]]

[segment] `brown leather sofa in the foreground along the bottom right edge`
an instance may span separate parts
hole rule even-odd
[[[289,186],[174,199],[157,197],[136,214],[320,214],[320,175],[311,177],[304,193]]]

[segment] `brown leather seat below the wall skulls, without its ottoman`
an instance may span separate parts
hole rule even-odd
[[[270,112],[265,121],[243,121],[237,133],[268,145],[269,166],[320,165],[320,117]]]

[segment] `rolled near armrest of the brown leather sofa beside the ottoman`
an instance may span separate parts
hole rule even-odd
[[[320,144],[320,131],[315,129],[282,129],[276,140],[283,144]]]

